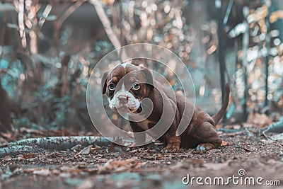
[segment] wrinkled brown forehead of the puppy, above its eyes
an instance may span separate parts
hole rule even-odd
[[[122,81],[145,81],[144,74],[141,73],[141,69],[133,64],[119,64],[117,67],[110,71],[108,76],[108,82]]]

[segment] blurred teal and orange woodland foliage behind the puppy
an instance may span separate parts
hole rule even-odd
[[[242,113],[244,102],[248,110],[282,115],[282,1],[221,1],[220,17],[217,2],[1,1],[1,132],[12,127],[93,130],[86,110],[91,71],[111,50],[137,42],[175,52],[192,74],[197,105],[214,113],[221,105],[218,21],[231,113]],[[115,114],[112,118],[118,120]]]

